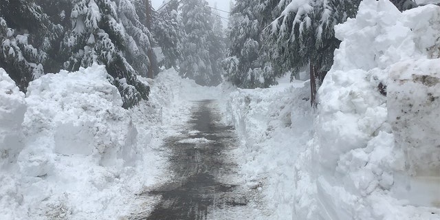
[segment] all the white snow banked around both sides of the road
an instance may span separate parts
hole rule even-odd
[[[200,87],[169,69],[140,78],[151,99],[125,110],[100,66],[42,76],[26,96],[0,69],[0,219],[148,213],[157,198],[133,195],[170,178],[162,140],[203,99],[236,127],[232,155],[270,219],[440,219],[439,30],[438,6],[362,1],[336,27],[316,112],[307,81]]]

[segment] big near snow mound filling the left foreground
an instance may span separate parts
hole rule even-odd
[[[0,167],[0,219],[107,219],[127,212],[118,198],[130,188],[118,184],[133,175],[144,146],[137,146],[137,129],[107,77],[98,65],[47,74],[30,83],[25,98],[0,72],[0,135],[7,131],[19,143],[0,142],[10,161]]]

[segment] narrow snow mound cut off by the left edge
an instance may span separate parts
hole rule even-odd
[[[23,148],[21,123],[26,111],[25,94],[0,68],[0,168],[17,159]]]

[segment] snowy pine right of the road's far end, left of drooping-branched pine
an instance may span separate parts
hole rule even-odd
[[[268,87],[276,83],[276,72],[267,63],[267,53],[262,49],[261,34],[272,21],[274,0],[236,1],[230,16],[230,48],[223,62],[225,78],[238,87]]]

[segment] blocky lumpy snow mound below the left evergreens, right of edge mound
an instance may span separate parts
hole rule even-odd
[[[96,155],[104,165],[134,160],[137,131],[122,109],[118,89],[107,77],[104,66],[93,65],[32,81],[23,126],[35,146],[29,157],[23,153],[23,159],[28,161],[36,155],[36,148],[43,147],[60,155]]]

